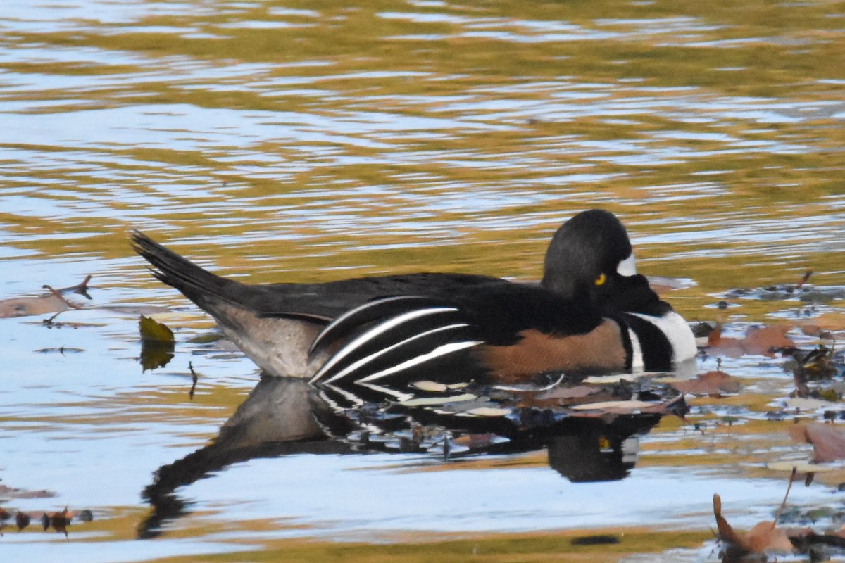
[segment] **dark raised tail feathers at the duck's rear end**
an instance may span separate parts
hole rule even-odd
[[[210,296],[226,299],[228,286],[235,284],[200,268],[138,230],[133,231],[131,236],[135,252],[150,263],[153,275],[181,291],[201,308],[204,308],[204,301]]]

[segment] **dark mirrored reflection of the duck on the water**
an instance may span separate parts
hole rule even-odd
[[[634,408],[601,402],[620,395],[637,399]],[[565,412],[550,407],[560,401],[548,390],[461,390],[439,399],[342,408],[332,392],[302,379],[262,377],[215,441],[155,472],[143,492],[152,512],[139,537],[159,535],[163,524],[188,512],[188,501],[175,494],[178,487],[255,457],[430,452],[445,462],[547,448],[549,465],[572,482],[624,479],[635,465],[639,436],[663,414],[685,410],[677,393],[667,398],[619,384],[597,397],[595,409],[575,405]]]

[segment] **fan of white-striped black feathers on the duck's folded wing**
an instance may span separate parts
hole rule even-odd
[[[482,344],[475,333],[466,314],[444,300],[373,300],[338,317],[314,338],[312,350],[348,336],[310,381],[405,383],[412,372]]]

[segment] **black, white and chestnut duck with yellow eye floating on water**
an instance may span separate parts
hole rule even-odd
[[[244,284],[131,233],[161,282],[215,319],[264,375],[390,393],[417,382],[672,371],[695,358],[684,318],[637,273],[627,230],[589,209],[552,236],[539,283],[412,273]]]

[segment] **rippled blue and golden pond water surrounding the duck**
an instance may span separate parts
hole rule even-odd
[[[7,528],[0,552],[91,563],[311,536],[706,531],[714,491],[740,526],[766,517],[783,483],[760,464],[786,442],[689,443],[689,428],[664,420],[631,477],[610,485],[571,484],[542,453],[460,467],[385,453],[253,459],[178,490],[190,513],[139,542],[155,469],[214,438],[257,374],[189,342],[210,320],[150,277],[126,233],[254,282],[536,279],[562,220],[604,207],[629,226],[643,272],[695,282],[668,295],[690,320],[789,319],[800,304],[708,306],[808,268],[815,284],[842,284],[843,30],[841,6],[821,1],[7,0],[0,298],[90,273],[93,300],[75,302],[179,311],[161,317],[176,357],[145,372],[134,310],[67,311],[52,328],[48,316],[0,320],[0,485],[55,494],[3,506],[95,514],[68,540]],[[780,363],[724,366],[785,396]]]

